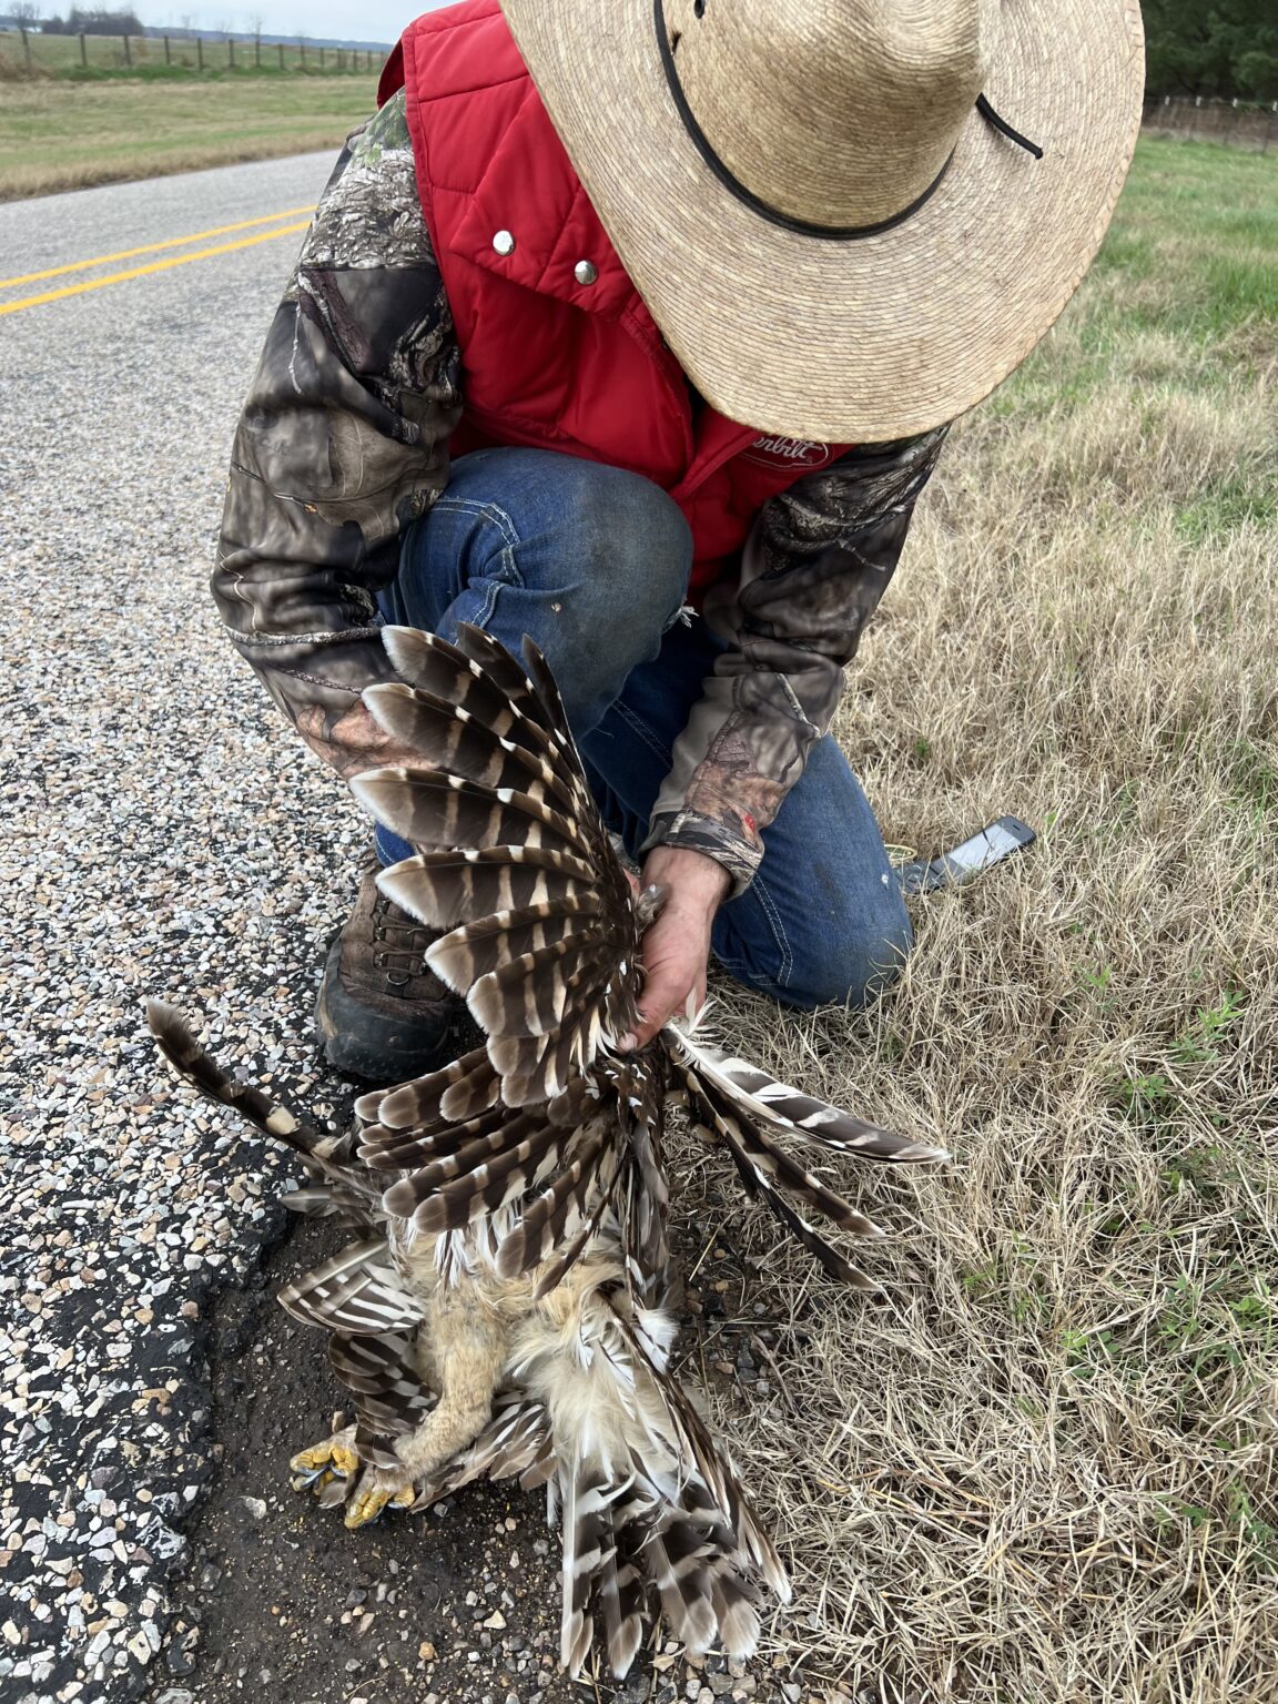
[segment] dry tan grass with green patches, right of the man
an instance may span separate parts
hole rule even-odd
[[[1278,160],[1145,141],[842,711],[889,838],[1041,842],[920,903],[869,1014],[726,999],[741,1051],[954,1160],[842,1171],[898,1232],[883,1307],[716,1157],[680,1200],[724,1225],[700,1367],[780,1327],[784,1387],[714,1406],[787,1535],[804,1697],[1278,1697],[1276,443]]]

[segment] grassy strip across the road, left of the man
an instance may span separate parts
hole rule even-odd
[[[0,201],[337,148],[377,77],[0,83]]]

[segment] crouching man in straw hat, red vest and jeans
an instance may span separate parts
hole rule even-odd
[[[549,658],[608,825],[670,901],[646,1041],[711,954],[862,1002],[910,924],[828,734],[946,423],[1099,242],[1140,114],[1125,0],[467,0],[395,48],[235,438],[213,576],[341,775],[387,620]],[[992,104],[993,102],[993,104]],[[1009,119],[995,106],[1005,107]],[[377,832],[329,1060],[457,1051]]]

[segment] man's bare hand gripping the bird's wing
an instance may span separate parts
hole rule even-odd
[[[670,889],[661,915],[642,941],[644,992],[641,1024],[620,1050],[641,1048],[675,1012],[695,1010],[705,1000],[705,964],[711,924],[728,896],[733,878],[714,859],[685,847],[656,847],[644,864],[642,886],[659,881]]]

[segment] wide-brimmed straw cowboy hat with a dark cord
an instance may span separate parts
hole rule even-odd
[[[625,269],[721,412],[820,441],[988,395],[1087,271],[1137,0],[503,0]]]

